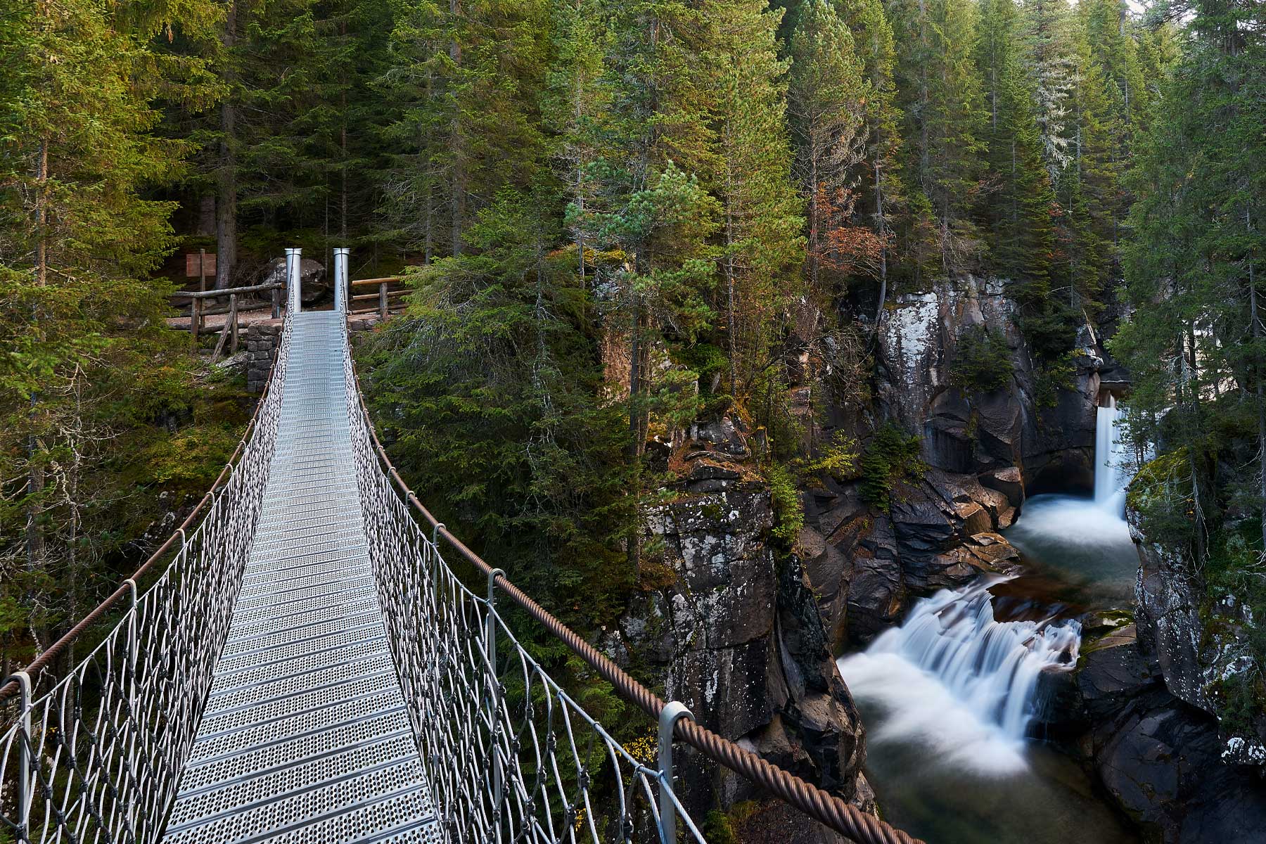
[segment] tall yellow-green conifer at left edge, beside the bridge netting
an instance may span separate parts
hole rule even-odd
[[[215,24],[209,4],[181,11],[187,27],[108,0],[0,8],[0,524],[22,538],[0,552],[0,612],[20,590],[37,649],[82,612],[109,544],[89,529],[110,504],[94,471],[177,380],[152,366],[170,286],[149,273],[173,245],[152,192],[192,146],[160,137],[160,109],[204,102],[209,80],[152,39]],[[5,662],[9,643],[0,629]]]

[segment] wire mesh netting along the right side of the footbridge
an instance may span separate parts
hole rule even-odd
[[[379,461],[344,348],[352,452],[379,600],[447,840],[655,841],[655,740],[622,743],[454,574]],[[491,578],[491,576],[490,576]],[[672,790],[684,840],[704,838]]]

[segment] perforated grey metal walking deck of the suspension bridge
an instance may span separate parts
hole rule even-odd
[[[281,425],[166,844],[438,841],[375,593],[341,315],[295,316]]]

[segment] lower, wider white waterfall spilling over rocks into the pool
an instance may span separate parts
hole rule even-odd
[[[839,661],[855,696],[891,711],[880,739],[918,735],[994,771],[1024,764],[1038,674],[1076,663],[1081,625],[996,621],[989,588],[999,581],[924,599],[900,628]]]

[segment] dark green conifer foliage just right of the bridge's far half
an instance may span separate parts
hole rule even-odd
[[[601,401],[595,313],[538,197],[503,192],[475,251],[410,276],[361,352],[392,458],[438,515],[562,617],[609,621],[633,586],[624,409]],[[585,596],[581,601],[577,596]]]

